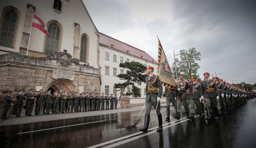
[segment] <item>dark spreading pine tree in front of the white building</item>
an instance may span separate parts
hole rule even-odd
[[[146,74],[143,74],[145,72],[146,66],[144,66],[142,63],[139,62],[125,62],[120,63],[119,67],[121,68],[127,68],[129,70],[126,71],[125,74],[119,74],[117,77],[120,80],[125,80],[124,83],[115,83],[115,88],[117,88],[117,91],[121,90],[121,95],[118,99],[118,101],[121,100],[121,97],[124,93],[125,88],[132,87],[131,92],[127,92],[127,95],[132,95],[133,97],[141,97],[141,93],[139,92],[139,88],[135,86],[137,83],[138,85],[141,85],[142,82],[145,81],[145,78],[147,77]]]

